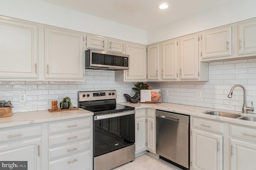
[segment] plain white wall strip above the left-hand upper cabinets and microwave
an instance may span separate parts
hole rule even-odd
[[[40,0],[0,0],[0,15],[146,44],[146,31]]]

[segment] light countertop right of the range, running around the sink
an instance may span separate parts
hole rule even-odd
[[[191,116],[196,116],[196,117],[213,119],[213,120],[217,120],[217,121],[224,121],[224,122],[229,122],[229,123],[236,123],[236,124],[240,124],[240,125],[256,127],[256,122],[253,122],[253,121],[246,121],[246,120],[234,119],[234,118],[229,118],[229,117],[208,115],[208,114],[204,114],[202,112],[222,111],[222,112],[227,112],[227,113],[238,114],[241,116],[256,117],[256,114],[253,114],[253,113],[244,114],[242,112],[212,109],[212,108],[206,108],[206,107],[196,107],[196,106],[189,106],[189,105],[179,105],[179,104],[173,104],[173,103],[130,103],[130,102],[124,102],[124,103],[118,103],[118,104],[132,106],[132,107],[135,107],[135,109],[152,108],[152,109],[158,109],[158,110],[169,111],[169,112],[174,112],[174,113],[181,113],[184,115],[191,115]]]

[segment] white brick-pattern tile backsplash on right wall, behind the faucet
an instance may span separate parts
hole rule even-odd
[[[254,102],[256,108],[256,59],[209,63],[209,81],[154,82],[152,85],[154,89],[161,89],[163,102],[242,111],[242,88],[236,87],[233,97],[228,98],[231,87],[236,84],[246,88],[247,107],[252,107]],[[195,98],[195,92],[202,92],[202,98]]]

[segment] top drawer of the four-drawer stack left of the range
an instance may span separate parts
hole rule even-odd
[[[48,124],[48,134],[91,126],[91,118]]]

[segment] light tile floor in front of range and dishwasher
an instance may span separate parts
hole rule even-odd
[[[151,154],[138,156],[134,161],[118,166],[112,170],[182,170],[169,162],[158,159]]]

